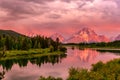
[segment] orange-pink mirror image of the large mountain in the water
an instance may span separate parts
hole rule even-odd
[[[80,61],[83,62],[90,62],[94,60],[94,58],[99,55],[99,53],[96,50],[91,50],[91,49],[84,49],[84,50],[79,50],[79,49],[74,49],[73,51],[74,57],[77,57],[80,59]]]

